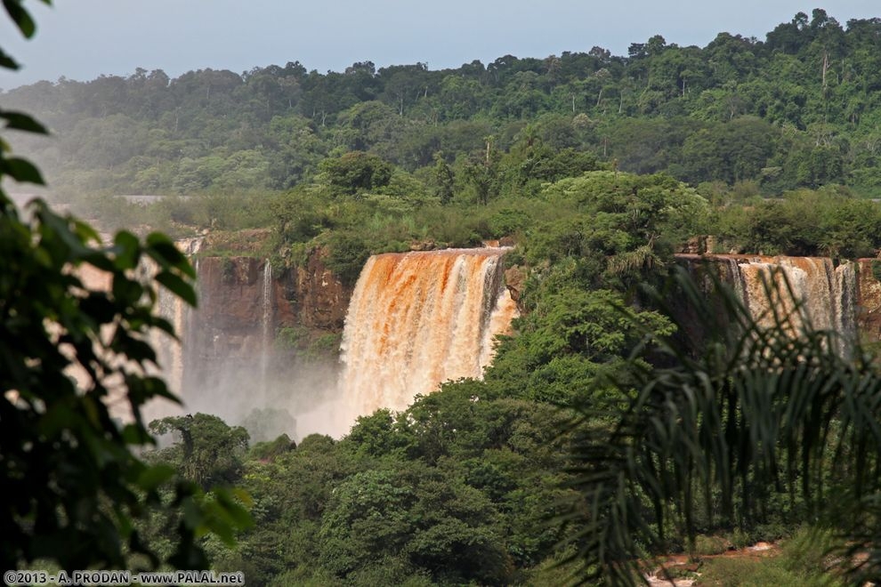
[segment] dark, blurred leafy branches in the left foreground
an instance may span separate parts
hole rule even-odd
[[[33,36],[21,4],[4,7]],[[0,67],[18,66],[0,51]],[[18,112],[0,111],[0,118],[7,129],[45,133]],[[0,141],[0,176],[43,183],[34,165],[9,153]],[[156,267],[146,284],[134,271],[144,260]],[[85,284],[86,268],[107,277],[109,289]],[[133,520],[162,505],[158,488],[174,471],[147,465],[133,450],[153,442],[141,407],[151,398],[176,401],[149,374],[157,361],[150,334],[174,335],[154,312],[155,288],[193,304],[193,269],[167,237],[141,242],[120,232],[102,245],[91,227],[40,200],[20,215],[0,190],[0,276],[0,565],[51,559],[69,570],[130,567],[128,557],[139,553],[158,565]],[[231,540],[233,523],[247,519],[229,493],[204,503],[186,481],[174,486],[174,503],[189,513],[176,528],[174,567],[206,566],[196,536],[210,527]]]

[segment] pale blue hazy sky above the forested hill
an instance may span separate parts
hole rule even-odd
[[[39,79],[128,76],[134,68],[255,66],[299,60],[342,71],[423,61],[455,68],[505,54],[546,57],[594,45],[626,55],[631,43],[662,35],[704,46],[719,32],[756,36],[818,4],[794,0],[25,0],[36,36],[21,41],[4,19],[0,45],[19,72],[0,72],[0,88]],[[881,16],[877,0],[829,0],[821,7],[842,25]]]

